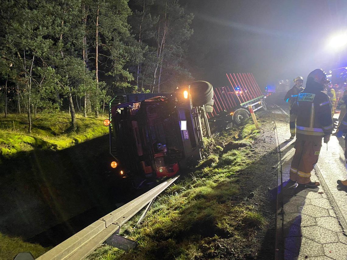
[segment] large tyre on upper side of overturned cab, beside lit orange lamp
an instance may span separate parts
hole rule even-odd
[[[194,81],[190,84],[193,106],[207,104],[213,98],[213,87],[207,81]]]

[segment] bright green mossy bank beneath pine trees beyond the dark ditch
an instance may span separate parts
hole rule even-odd
[[[61,150],[108,133],[101,118],[76,115],[77,130],[73,132],[68,132],[70,121],[70,115],[64,112],[38,114],[29,134],[25,114],[0,115],[0,162],[1,157],[34,149]]]

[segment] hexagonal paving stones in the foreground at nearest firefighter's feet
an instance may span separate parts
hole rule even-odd
[[[282,222],[278,217],[277,226],[284,243],[284,259],[345,260],[347,236],[342,232],[324,189],[321,186],[302,189],[297,184],[287,185],[294,152],[292,144],[281,153],[283,189],[279,198],[283,201],[284,218]],[[314,171],[311,180],[318,180]]]

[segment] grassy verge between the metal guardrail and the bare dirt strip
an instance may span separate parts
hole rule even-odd
[[[138,242],[137,248],[124,252],[104,245],[87,259],[219,259],[218,240],[228,238],[235,259],[244,259],[242,247],[252,244],[255,229],[265,224],[254,206],[237,196],[239,175],[253,167],[247,144],[258,132],[246,125],[240,132],[246,147],[229,151],[205,140],[206,158],[195,171],[169,187],[141,225],[133,228],[134,217],[122,228],[122,235]]]

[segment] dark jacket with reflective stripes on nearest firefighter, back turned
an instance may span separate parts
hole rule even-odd
[[[297,96],[290,110],[296,115],[296,137],[315,141],[324,135],[331,135],[333,122],[331,103],[327,94],[314,85],[307,85]]]

